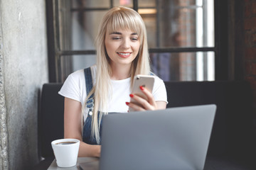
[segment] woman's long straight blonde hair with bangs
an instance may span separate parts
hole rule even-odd
[[[95,40],[96,50],[97,50],[97,73],[95,86],[93,86],[92,91],[87,96],[88,99],[91,94],[95,94],[94,108],[92,111],[92,137],[95,137],[97,144],[100,144],[100,122],[103,115],[107,115],[107,101],[110,94],[110,75],[112,70],[110,67],[110,57],[108,57],[105,49],[105,35],[108,32],[114,32],[119,29],[132,30],[137,33],[140,40],[140,47],[137,57],[132,62],[131,66],[131,87],[133,84],[134,76],[137,74],[149,74],[150,64],[149,64],[149,52],[146,40],[146,27],[142,17],[134,11],[132,8],[127,7],[114,7],[110,11],[107,11],[105,16],[100,23],[100,27],[97,33],[97,38]],[[100,115],[98,116],[98,111]]]

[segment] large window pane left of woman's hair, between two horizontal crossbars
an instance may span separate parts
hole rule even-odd
[[[60,50],[95,50],[100,20],[106,11],[74,11],[70,24],[60,27]],[[69,31],[61,31],[69,30]],[[68,45],[66,45],[68,43]]]

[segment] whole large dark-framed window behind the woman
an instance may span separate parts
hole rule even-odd
[[[220,57],[215,1],[47,1],[50,81],[63,82],[71,72],[95,64],[97,29],[112,6],[127,6],[140,13],[148,34],[152,69],[161,79],[213,81]]]

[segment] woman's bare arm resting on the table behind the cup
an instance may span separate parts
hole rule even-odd
[[[79,101],[65,98],[64,138],[80,140],[78,157],[100,157],[100,145],[88,145],[82,142],[82,105]]]

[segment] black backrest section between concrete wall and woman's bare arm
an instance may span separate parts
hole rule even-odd
[[[53,157],[50,142],[64,137],[64,97],[58,94],[63,84],[43,84],[38,115],[38,145],[41,157]]]

